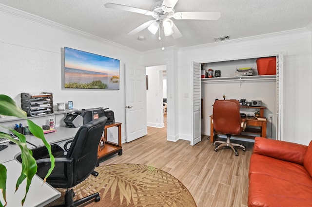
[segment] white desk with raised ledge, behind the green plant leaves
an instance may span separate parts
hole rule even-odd
[[[66,113],[71,113],[78,111],[78,109],[73,110],[65,110],[62,112],[55,112],[53,115],[62,115]],[[43,115],[37,117],[29,117],[30,119],[36,119],[40,117],[51,116],[51,115]],[[14,122],[20,121],[19,118],[14,117],[5,117],[0,119],[0,123],[5,122]],[[57,128],[57,132],[52,132],[49,134],[45,134],[47,142],[50,144],[65,141],[71,138],[74,138],[76,132],[79,128],[67,128],[65,126],[60,126]],[[34,149],[36,147],[43,146],[41,139],[36,138],[32,135],[26,136],[27,147],[29,149]],[[0,151],[0,163],[7,168],[7,183],[6,183],[6,200],[7,207],[21,207],[21,200],[25,196],[25,187],[26,180],[20,185],[20,188],[17,192],[15,192],[15,186],[18,177],[21,172],[21,164],[15,160],[15,156],[20,154],[20,147],[15,144],[7,143],[9,147]],[[52,186],[47,183],[43,183],[43,180],[35,175],[32,179],[32,183],[30,185],[30,189],[28,191],[25,203],[23,207],[42,207],[45,206],[55,199],[60,197],[60,192],[55,190]],[[2,194],[0,193],[0,200],[2,204],[4,204],[4,200],[2,198]]]

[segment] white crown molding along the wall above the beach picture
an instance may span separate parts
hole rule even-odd
[[[30,21],[36,22],[38,24],[42,24],[42,25],[45,25],[48,27],[52,27],[54,29],[61,30],[63,32],[67,32],[67,33],[70,33],[73,35],[79,35],[79,36],[82,36],[82,37],[85,37],[88,39],[100,41],[100,42],[103,42],[105,44],[109,44],[111,46],[118,47],[120,49],[129,51],[129,52],[139,53],[139,51],[137,51],[137,50],[128,48],[124,45],[117,44],[116,42],[112,42],[110,40],[98,37],[96,35],[91,35],[89,33],[82,32],[80,30],[77,30],[77,29],[74,29],[71,27],[67,27],[67,26],[59,24],[57,22],[54,22],[54,21],[51,21],[51,20],[48,20],[48,19],[45,19],[42,17],[38,17],[36,15],[30,14],[30,13],[27,13],[27,12],[24,12],[24,11],[21,11],[21,10],[18,10],[18,9],[15,9],[15,8],[12,8],[12,7],[3,5],[3,4],[0,4],[0,12],[6,13],[6,14],[14,16],[14,17],[19,17],[22,19],[30,20]]]

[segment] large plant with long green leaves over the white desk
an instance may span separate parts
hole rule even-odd
[[[10,97],[0,94],[0,115],[5,115],[5,116],[14,116],[18,117],[21,119],[24,119],[28,123],[28,127],[30,132],[36,136],[37,138],[41,139],[42,142],[44,143],[45,147],[48,149],[49,155],[50,155],[50,160],[51,160],[51,168],[49,169],[48,173],[46,174],[44,181],[46,178],[51,174],[52,170],[54,169],[54,156],[52,155],[51,152],[51,146],[50,144],[46,141],[43,135],[43,130],[40,126],[35,124],[33,121],[27,119],[27,114],[25,111],[23,111],[15,102],[12,100]],[[2,126],[3,127],[3,126]],[[20,177],[17,180],[16,183],[16,190],[19,189],[20,184],[26,179],[26,189],[25,189],[25,196],[21,201],[21,205],[24,204],[29,186],[31,185],[32,178],[34,175],[37,173],[37,163],[35,158],[32,156],[32,151],[27,148],[26,145],[26,138],[23,134],[20,134],[14,129],[8,128],[8,127],[3,127],[11,131],[13,134],[15,134],[18,139],[15,140],[14,138],[11,138],[10,135],[4,132],[0,132],[0,137],[2,138],[7,138],[10,141],[14,142],[15,144],[19,145],[20,151],[21,151],[21,158],[22,158],[22,169],[20,173]],[[6,178],[7,178],[7,170],[6,167],[2,164],[0,164],[0,189],[2,190],[2,196],[3,199],[5,200],[5,204],[2,204],[0,202],[0,207],[6,206]]]

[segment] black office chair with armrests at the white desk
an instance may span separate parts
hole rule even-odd
[[[64,198],[66,207],[75,207],[93,198],[95,198],[95,202],[100,200],[97,192],[73,202],[75,193],[73,189],[69,189],[94,172],[98,162],[98,143],[102,137],[106,120],[106,117],[100,117],[81,126],[75,138],[70,141],[71,145],[67,155],[55,157],[55,168],[46,182],[55,188],[67,189]],[[65,144],[65,148],[68,143]],[[49,161],[49,158],[37,160],[37,175],[41,178],[44,178],[50,168]]]

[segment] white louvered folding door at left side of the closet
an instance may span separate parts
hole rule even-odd
[[[193,62],[193,72],[192,72],[192,139],[191,145],[194,146],[201,141],[200,133],[200,113],[201,113],[201,92],[200,92],[200,64]]]

